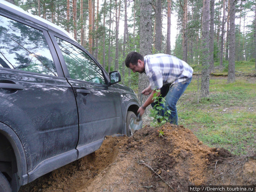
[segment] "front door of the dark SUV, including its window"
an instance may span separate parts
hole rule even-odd
[[[71,42],[52,38],[59,46],[60,61],[66,64],[65,75],[75,91],[79,114],[77,149],[82,157],[95,151],[106,135],[122,132],[120,93],[107,85],[103,70],[89,54]]]

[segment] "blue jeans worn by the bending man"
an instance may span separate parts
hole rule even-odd
[[[162,106],[162,110],[159,110],[158,114],[160,114],[161,116],[165,116],[165,114],[167,114],[166,112],[170,110],[171,114],[169,114],[168,122],[171,124],[178,125],[176,103],[180,96],[188,87],[189,83],[191,82],[191,79],[192,78],[180,83],[174,83],[172,86],[170,86],[169,84],[164,85],[161,88],[161,97],[165,97],[165,106],[162,103],[159,103],[159,105]],[[160,98],[159,102],[161,102],[161,100],[162,99]],[[158,104],[158,101],[151,103],[151,106],[154,108],[156,104]]]

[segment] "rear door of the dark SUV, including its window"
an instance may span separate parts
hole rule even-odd
[[[0,101],[0,121],[24,147],[29,181],[76,160],[74,91],[49,34],[11,15],[0,15]]]

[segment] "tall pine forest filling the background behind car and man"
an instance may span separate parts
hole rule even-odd
[[[214,66],[223,68],[228,63],[227,81],[234,82],[235,61],[255,62],[255,0],[15,0],[12,3],[67,30],[106,71],[118,70],[121,83],[132,88],[140,83],[139,75],[131,73],[124,64],[130,51],[143,55],[167,53],[186,61],[194,73],[202,73],[203,97],[208,95],[208,76]],[[195,66],[200,67],[195,70]]]

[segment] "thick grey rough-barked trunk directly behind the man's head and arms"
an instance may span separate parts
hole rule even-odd
[[[145,56],[152,54],[152,1],[140,1],[140,53]],[[146,74],[139,74],[139,94],[148,87],[148,80]],[[143,102],[146,101],[143,98]],[[139,101],[141,102],[141,101]],[[148,109],[145,111],[148,114]]]

